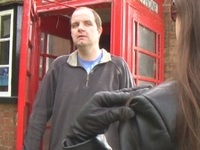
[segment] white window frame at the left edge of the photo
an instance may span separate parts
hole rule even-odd
[[[0,38],[0,42],[9,41],[9,63],[8,65],[0,65],[0,68],[8,67],[8,91],[0,91],[0,97],[10,97],[11,96],[11,79],[12,79],[12,56],[13,56],[13,22],[14,22],[14,10],[0,11],[0,17],[10,15],[10,37]]]

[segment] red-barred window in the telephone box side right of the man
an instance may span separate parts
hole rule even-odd
[[[142,20],[146,19],[145,18]],[[137,85],[160,83],[161,37],[151,24],[133,20],[132,71]]]

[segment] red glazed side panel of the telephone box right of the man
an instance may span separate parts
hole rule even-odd
[[[126,4],[124,57],[130,66],[136,85],[158,85],[163,81],[163,1],[151,2],[152,4],[148,6],[141,0],[129,0]]]

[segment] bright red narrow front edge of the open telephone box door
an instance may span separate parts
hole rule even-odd
[[[27,48],[29,39],[31,0],[24,0],[20,65],[19,65],[19,88],[18,88],[18,122],[17,122],[17,145],[16,149],[21,150],[24,134],[25,101],[26,101],[26,73],[27,73]],[[23,58],[23,59],[22,59]]]

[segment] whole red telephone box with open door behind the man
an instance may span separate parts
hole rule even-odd
[[[123,57],[136,85],[163,81],[163,0],[24,0],[20,53],[17,150],[40,80],[59,55],[74,50],[69,18],[76,7],[88,6],[102,18],[100,47]],[[65,49],[63,49],[65,47]],[[41,142],[48,149],[50,121]]]

